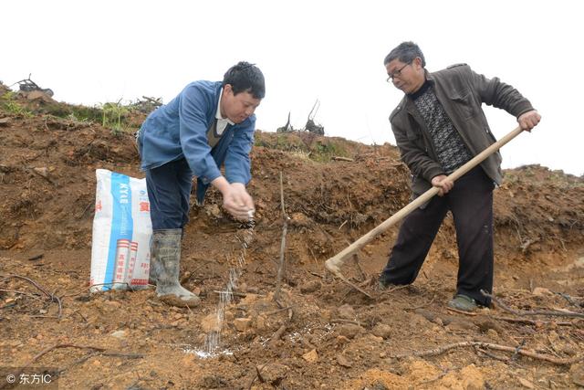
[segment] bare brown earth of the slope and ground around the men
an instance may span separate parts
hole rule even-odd
[[[4,92],[0,85],[0,98]],[[372,298],[325,272],[327,258],[408,203],[409,173],[389,144],[258,132],[249,186],[255,226],[225,216],[214,192],[192,209],[182,278],[202,296],[199,308],[167,306],[153,290],[89,294],[95,170],[143,177],[132,137],[49,115],[50,107],[70,110],[53,100],[15,101],[28,111],[0,105],[0,370],[27,366],[20,371],[40,374],[45,367],[61,388],[75,389],[584,385],[582,314],[517,316],[495,305],[468,316],[445,309],[457,269],[451,216],[410,287],[375,288],[397,227],[360,252],[362,273],[354,261],[343,267]],[[131,115],[134,125],[143,119]],[[280,172],[291,220],[276,302]],[[519,311],[583,312],[583,199],[582,177],[540,166],[506,172],[495,190],[500,300]],[[252,238],[247,249],[245,237]],[[218,348],[205,355],[221,303],[214,291],[224,290],[230,269],[241,272],[238,294],[225,308]],[[463,342],[514,350],[475,344],[413,356]]]

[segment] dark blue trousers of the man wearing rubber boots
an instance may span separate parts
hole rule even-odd
[[[183,228],[189,221],[193,173],[185,159],[146,171],[152,229]]]

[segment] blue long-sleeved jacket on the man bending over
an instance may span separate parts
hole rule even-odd
[[[213,149],[207,142],[221,89],[221,81],[192,82],[168,104],[151,112],[138,133],[141,169],[186,159],[197,176],[199,203],[209,184],[221,175],[223,163],[229,183],[247,184],[251,180],[249,153],[254,144],[255,115],[227,126]]]

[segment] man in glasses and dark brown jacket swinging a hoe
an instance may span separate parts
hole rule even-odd
[[[481,105],[514,115],[530,131],[541,119],[529,100],[499,79],[487,79],[465,64],[430,73],[422,50],[403,42],[384,59],[388,82],[405,96],[391,112],[391,130],[401,160],[412,172],[412,197],[432,186],[439,196],[414,210],[401,224],[380,287],[412,283],[432,246],[443,218],[454,216],[459,269],[454,299],[448,306],[474,311],[490,300],[481,290],[493,289],[493,189],[500,184],[501,155],[483,163],[454,182],[457,168],[495,142]]]

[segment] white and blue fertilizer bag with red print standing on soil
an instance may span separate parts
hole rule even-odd
[[[146,179],[96,170],[91,291],[148,285],[152,224]]]

